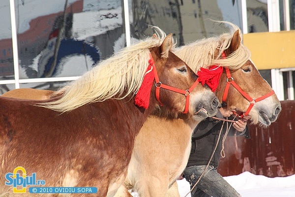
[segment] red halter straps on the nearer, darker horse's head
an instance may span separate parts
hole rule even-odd
[[[163,105],[163,103],[160,101],[160,88],[170,90],[170,91],[173,91],[173,92],[176,92],[176,93],[180,93],[180,94],[185,96],[185,108],[184,108],[184,111],[182,113],[187,114],[188,113],[188,107],[189,107],[190,93],[198,85],[199,81],[196,80],[195,83],[188,90],[181,90],[181,89],[178,89],[178,88],[174,88],[174,87],[162,84],[160,82],[160,80],[159,80],[158,73],[157,73],[157,70],[156,70],[156,66],[155,66],[155,63],[153,61],[153,58],[152,58],[151,54],[149,54],[149,58],[150,58],[150,60],[152,62],[152,68],[151,69],[153,69],[154,75],[155,75],[156,98],[157,98],[158,102],[160,103],[160,105]]]

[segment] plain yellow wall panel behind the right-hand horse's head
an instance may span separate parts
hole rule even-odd
[[[295,67],[295,31],[247,33],[243,44],[258,69]]]

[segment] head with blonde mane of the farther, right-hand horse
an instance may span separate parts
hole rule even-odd
[[[210,71],[210,66],[223,66],[223,74],[216,90],[219,101],[221,102],[223,99],[227,81],[234,79],[234,82],[242,90],[241,92],[244,93],[239,93],[233,87],[232,84],[234,83],[229,86],[228,96],[227,98],[224,97],[229,109],[244,112],[246,115],[249,113],[254,124],[260,122],[266,126],[270,125],[271,122],[277,119],[281,111],[280,102],[272,92],[269,84],[262,78],[251,62],[250,51],[241,43],[239,28],[230,22],[219,22],[232,26],[236,32],[197,40],[176,48],[174,52],[196,72],[200,70],[200,67],[209,67]],[[230,69],[230,77],[226,74],[226,68]],[[211,70],[214,70],[214,73],[216,71],[215,68]],[[222,69],[218,70],[222,71]],[[218,81],[217,78],[216,80]],[[211,81],[215,82],[215,80]],[[215,86],[213,87],[215,88]],[[251,107],[252,109],[250,109]]]

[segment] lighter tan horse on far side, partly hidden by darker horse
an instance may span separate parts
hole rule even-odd
[[[230,25],[234,30],[232,33],[196,41],[176,48],[174,52],[194,71],[199,70],[198,66],[223,66],[216,90],[217,98],[223,100],[227,81],[232,77],[244,93],[241,94],[231,85],[224,102],[232,111],[247,112],[253,103],[249,98],[256,99],[247,113],[254,124],[270,125],[281,110],[280,102],[250,60],[250,52],[241,43],[239,29]],[[225,58],[222,58],[222,54],[225,54]],[[226,74],[226,68],[230,68],[230,77]],[[262,100],[259,101],[259,98]],[[134,189],[141,197],[179,197],[176,179],[187,164],[191,134],[199,122],[186,115],[173,120],[149,116],[135,138],[125,181],[128,189]],[[116,197],[128,196],[125,194],[126,189],[121,188],[121,193],[118,192]]]

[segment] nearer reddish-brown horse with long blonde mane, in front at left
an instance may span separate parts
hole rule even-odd
[[[197,79],[170,51],[173,46],[169,34],[127,47],[44,102],[1,97],[0,194],[22,196],[12,193],[12,189],[30,187],[4,184],[9,183],[5,175],[22,166],[27,176],[35,172],[47,187],[97,187],[98,192],[92,196],[114,196],[125,180],[135,136],[159,106],[155,82],[149,107],[134,104],[134,95],[148,68],[149,54],[154,60],[152,71],[167,87],[187,90]],[[202,101],[199,94],[206,100]],[[184,95],[163,88],[162,108],[175,116],[184,111],[189,101],[188,116],[197,114],[202,107],[207,108],[208,114],[217,112],[218,100],[201,84],[189,97]],[[199,114],[207,116],[203,111]],[[25,177],[22,173],[15,175]],[[14,176],[9,177],[16,183]]]

